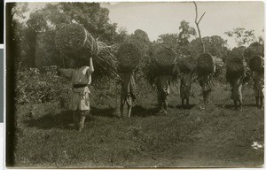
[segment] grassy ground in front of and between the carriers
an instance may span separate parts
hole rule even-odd
[[[197,85],[185,110],[178,90],[172,89],[168,115],[157,113],[154,89],[139,88],[130,119],[119,119],[113,107],[92,103],[92,116],[80,133],[67,128],[72,123],[67,111],[51,108],[23,120],[15,166],[262,166],[263,148],[255,150],[252,144],[264,144],[264,114],[254,106],[252,89],[244,89],[243,112],[234,111],[231,100],[221,106],[228,95],[225,85],[215,87],[213,104],[204,110]]]

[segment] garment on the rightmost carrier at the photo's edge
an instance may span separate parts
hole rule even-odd
[[[264,75],[262,73],[254,73],[254,96],[264,97]]]

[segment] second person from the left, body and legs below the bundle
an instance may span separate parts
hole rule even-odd
[[[120,112],[121,118],[124,117],[124,104],[128,105],[128,116],[131,115],[132,102],[136,99],[135,96],[135,78],[133,73],[121,74],[121,104]]]

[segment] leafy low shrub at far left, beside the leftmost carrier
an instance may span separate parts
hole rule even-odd
[[[69,81],[59,77],[55,69],[30,68],[16,74],[17,104],[55,103],[69,96]]]

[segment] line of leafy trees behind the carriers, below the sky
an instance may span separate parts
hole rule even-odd
[[[114,52],[123,42],[137,44],[142,50],[143,62],[149,59],[150,47],[158,44],[167,45],[179,55],[192,55],[195,58],[201,51],[195,28],[185,20],[176,28],[176,34],[159,35],[156,41],[151,42],[141,29],[129,35],[125,28],[118,28],[116,23],[111,23],[108,9],[98,3],[46,4],[42,9],[30,12],[26,19],[25,14],[28,12],[27,3],[12,4],[12,49],[18,69],[61,65],[54,37],[59,27],[73,22],[82,24],[93,37],[112,45]],[[241,27],[225,34],[233,37],[238,46],[229,49],[227,41],[221,36],[206,36],[202,37],[206,52],[223,61],[232,56],[246,59],[257,53],[263,56],[263,39],[255,37],[254,30]]]

